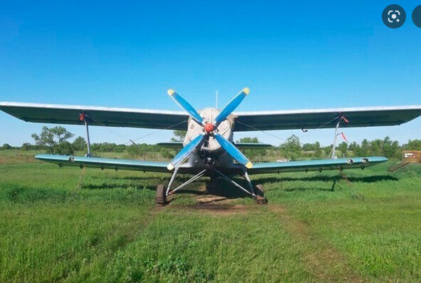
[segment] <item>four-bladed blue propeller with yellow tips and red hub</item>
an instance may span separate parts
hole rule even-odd
[[[167,93],[171,98],[189,115],[192,116],[193,120],[195,120],[200,125],[203,125],[203,133],[200,135],[197,135],[196,138],[190,141],[182,150],[180,150],[177,155],[175,155],[175,158],[171,160],[171,162],[168,164],[167,168],[168,170],[174,169],[176,166],[180,165],[192,151],[194,148],[197,148],[197,146],[202,143],[205,136],[207,135],[214,135],[214,138],[216,138],[219,145],[224,148],[224,150],[227,151],[229,155],[232,156],[235,160],[238,161],[238,163],[246,166],[246,168],[251,168],[253,165],[251,162],[241,153],[241,151],[238,150],[229,140],[224,138],[223,135],[219,134],[217,131],[217,127],[219,123],[221,123],[223,120],[225,120],[231,113],[234,111],[237,106],[243,101],[243,99],[246,97],[247,94],[249,94],[250,90],[249,88],[244,88],[240,93],[237,94],[234,98],[232,98],[231,101],[219,112],[217,117],[212,121],[212,123],[209,123],[208,121],[204,121],[203,118],[197,113],[197,111],[182,98],[178,93],[173,91],[172,89],[168,90]]]

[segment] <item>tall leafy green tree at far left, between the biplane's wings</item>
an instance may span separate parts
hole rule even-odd
[[[33,133],[31,135],[33,140],[35,140],[36,145],[45,146],[48,150],[48,153],[52,154],[68,154],[68,145],[61,145],[61,143],[67,142],[69,138],[73,137],[73,133],[66,130],[61,126],[56,126],[54,128],[48,128],[44,126],[42,128],[41,134]],[[73,146],[71,145],[73,148]],[[73,154],[73,153],[72,153]]]

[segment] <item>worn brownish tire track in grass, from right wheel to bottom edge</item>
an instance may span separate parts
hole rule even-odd
[[[295,219],[285,207],[268,205],[276,213],[287,232],[293,236],[303,250],[303,261],[308,265],[308,272],[321,282],[365,282],[348,259],[338,252],[330,243],[323,240],[311,230],[308,223]]]

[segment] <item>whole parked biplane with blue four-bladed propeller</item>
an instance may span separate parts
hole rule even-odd
[[[227,180],[254,197],[256,202],[266,203],[262,185],[252,185],[249,175],[364,169],[388,160],[381,156],[335,158],[333,155],[333,158],[326,160],[253,164],[239,149],[266,148],[270,145],[234,143],[234,132],[335,128],[336,138],[341,123],[345,127],[400,125],[421,115],[421,106],[234,112],[249,94],[249,88],[244,88],[221,110],[216,108],[195,110],[175,91],[170,89],[167,93],[184,111],[15,102],[1,102],[0,109],[26,122],[85,125],[88,144],[88,153],[85,156],[39,154],[35,156],[38,160],[59,166],[172,173],[168,185],[157,185],[155,197],[157,205],[166,205],[169,195],[203,176],[210,177],[210,182],[215,182],[218,178]],[[160,143],[162,146],[180,148],[170,163],[98,158],[90,153],[88,130],[90,125],[187,130],[187,134],[182,143]],[[192,177],[181,185],[173,187],[177,174],[187,174]],[[244,177],[246,186],[236,182],[233,178],[235,175]]]

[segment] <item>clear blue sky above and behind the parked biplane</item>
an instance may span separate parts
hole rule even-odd
[[[399,29],[381,19],[400,4]],[[219,106],[241,88],[237,110],[421,104],[420,1],[1,1],[0,101],[179,110]],[[0,145],[31,142],[43,124],[0,113]],[[83,127],[66,126],[76,135]],[[421,118],[347,129],[349,140],[421,138]],[[126,143],[154,130],[91,129],[92,142]],[[276,131],[287,138],[301,130]],[[167,141],[162,131],[139,140]],[[258,136],[279,145],[281,140]],[[333,130],[302,139],[329,144]]]

